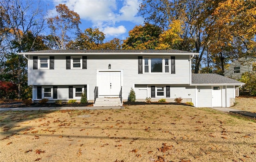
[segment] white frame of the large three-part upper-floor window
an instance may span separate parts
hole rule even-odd
[[[160,56],[160,57],[149,57],[149,56],[145,56],[143,57],[143,61],[142,61],[142,66],[143,66],[143,74],[171,74],[170,73],[170,59],[171,57],[164,57],[164,56]],[[145,59],[148,59],[148,65],[145,64]],[[151,72],[151,59],[162,59],[162,72]],[[165,59],[168,59],[168,70],[169,72],[165,72]],[[148,72],[145,72],[145,66],[148,66]]]

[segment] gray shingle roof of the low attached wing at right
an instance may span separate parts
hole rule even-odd
[[[192,74],[192,84],[195,85],[244,85],[243,82],[219,74]]]

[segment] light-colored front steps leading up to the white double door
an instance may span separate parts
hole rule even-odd
[[[120,98],[96,98],[93,106],[122,106]]]

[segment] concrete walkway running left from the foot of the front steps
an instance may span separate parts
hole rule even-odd
[[[10,107],[0,108],[0,111],[32,111],[32,110],[95,110],[95,109],[123,109],[123,106],[84,106],[84,107]]]

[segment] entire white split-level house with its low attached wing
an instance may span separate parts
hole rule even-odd
[[[85,92],[94,105],[122,105],[133,88],[136,101],[173,102],[181,97],[195,107],[230,107],[235,86],[244,85],[218,74],[192,74],[191,60],[198,53],[179,50],[44,50],[20,55],[28,59],[35,102],[80,101]]]

